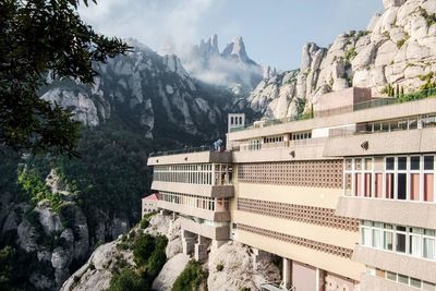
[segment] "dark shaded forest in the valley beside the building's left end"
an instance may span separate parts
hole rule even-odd
[[[107,123],[83,131],[77,151],[81,158],[60,157],[53,163],[77,192],[77,202],[94,227],[96,207],[110,216],[141,217],[141,197],[149,189],[148,153],[166,148],[167,141],[144,138],[112,116]],[[167,146],[171,146],[169,142]]]

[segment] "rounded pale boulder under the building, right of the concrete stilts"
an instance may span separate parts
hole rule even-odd
[[[219,270],[217,266],[222,266]],[[218,250],[213,250],[207,263],[209,277],[207,287],[210,291],[238,291],[243,288],[259,290],[265,281],[279,281],[280,270],[265,255],[257,263],[249,246],[229,242]]]

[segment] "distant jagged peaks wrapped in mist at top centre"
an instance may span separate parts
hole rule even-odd
[[[237,95],[252,90],[262,80],[264,70],[246,52],[242,37],[238,36],[220,52],[218,36],[202,39],[182,58],[187,72],[208,84],[230,88]]]

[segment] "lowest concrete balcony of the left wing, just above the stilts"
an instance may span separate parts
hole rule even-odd
[[[181,228],[202,237],[209,238],[217,241],[227,241],[230,239],[229,226],[213,226],[205,222],[196,222],[192,219],[181,218]]]

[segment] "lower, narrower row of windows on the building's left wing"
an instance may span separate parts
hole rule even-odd
[[[210,211],[229,210],[229,198],[209,198],[209,197],[173,193],[173,192],[160,192],[158,196],[159,201],[186,205],[194,208],[199,208]]]

